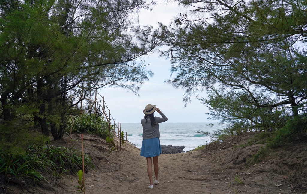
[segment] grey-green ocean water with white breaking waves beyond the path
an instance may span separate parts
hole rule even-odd
[[[209,131],[222,129],[223,126],[207,126],[209,123],[159,123],[161,145],[185,146],[184,151],[190,151],[198,146],[208,144],[212,136],[196,131]],[[141,149],[142,146],[142,124],[122,123],[121,131],[127,132],[129,142]]]

